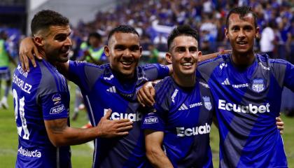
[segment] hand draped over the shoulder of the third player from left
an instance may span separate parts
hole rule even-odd
[[[155,104],[155,89],[153,82],[145,83],[137,92],[138,101],[142,106],[153,106]]]

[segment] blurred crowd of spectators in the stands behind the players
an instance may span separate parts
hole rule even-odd
[[[257,52],[267,52],[270,57],[294,62],[294,6],[286,0],[133,0],[121,3],[106,12],[99,11],[92,22],[80,22],[73,29],[74,57],[79,57],[80,43],[88,34],[97,32],[106,43],[107,34],[117,25],[132,25],[141,35],[141,45],[148,62],[159,61],[159,52],[167,50],[167,34],[176,25],[188,24],[200,33],[200,45],[204,54],[228,49],[225,38],[225,16],[235,6],[251,6],[258,13],[260,38],[256,41]]]

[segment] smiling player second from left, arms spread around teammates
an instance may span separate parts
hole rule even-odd
[[[141,57],[139,34],[130,26],[118,26],[108,36],[104,52],[110,64],[96,66],[85,62],[59,64],[60,71],[76,83],[85,100],[93,126],[111,108],[111,120],[129,118],[133,128],[125,137],[116,139],[95,139],[93,167],[146,167],[148,166],[144,132],[141,131],[142,109],[137,102],[136,92],[148,80],[163,78],[171,72],[171,66],[148,64],[137,66]],[[26,38],[20,47],[22,66],[29,70],[26,60],[38,51],[31,39]],[[216,53],[204,59],[216,57]]]

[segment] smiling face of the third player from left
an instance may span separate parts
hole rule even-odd
[[[175,77],[191,76],[195,74],[200,55],[196,39],[182,35],[174,38],[166,59],[172,64]]]

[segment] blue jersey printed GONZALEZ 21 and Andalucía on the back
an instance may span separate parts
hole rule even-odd
[[[45,60],[20,65],[13,74],[18,157],[15,167],[71,167],[69,146],[56,148],[46,133],[44,120],[69,118],[69,90],[64,77]]]

